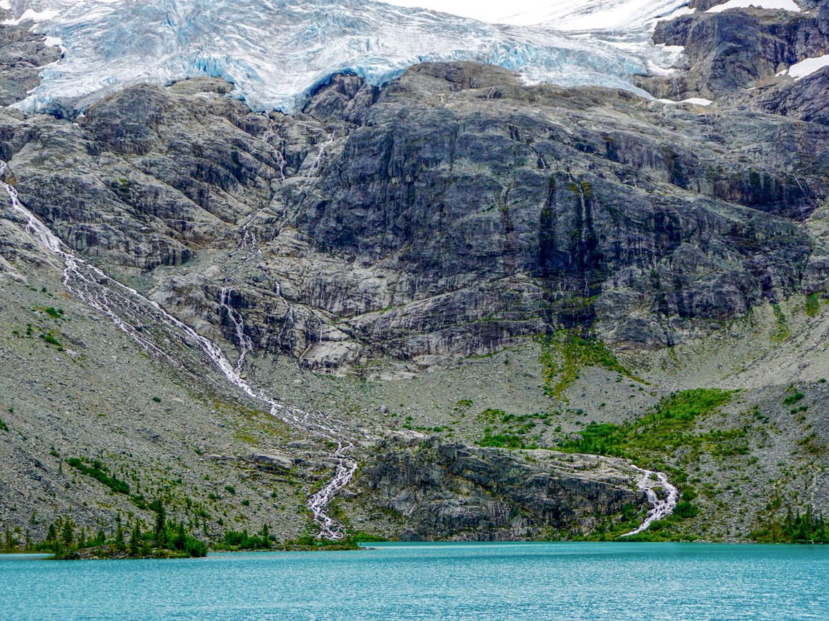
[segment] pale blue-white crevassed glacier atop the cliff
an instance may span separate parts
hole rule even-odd
[[[629,89],[670,70],[657,19],[686,0],[550,0],[493,23],[375,0],[7,0],[10,23],[61,46],[24,113],[82,112],[126,86],[211,76],[256,111],[293,112],[337,72],[371,84],[423,61],[476,60],[528,83]],[[521,3],[514,7],[520,10]]]

